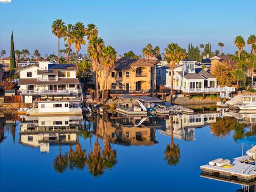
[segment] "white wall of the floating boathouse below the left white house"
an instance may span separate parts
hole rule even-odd
[[[55,104],[61,104],[62,107],[53,107]],[[65,104],[68,107],[65,107]],[[44,107],[42,107],[44,105]],[[68,112],[69,111],[69,102],[40,102],[38,103],[38,112]]]

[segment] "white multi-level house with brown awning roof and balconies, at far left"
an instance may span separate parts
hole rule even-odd
[[[73,64],[39,62],[19,69],[22,102],[47,100],[82,100],[76,67]]]

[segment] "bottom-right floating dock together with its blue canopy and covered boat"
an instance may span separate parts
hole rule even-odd
[[[215,165],[202,165],[200,169],[203,171],[203,175],[210,175],[219,178],[226,178],[229,180],[235,180],[238,182],[254,182],[256,181],[256,167],[255,167],[255,146],[246,151],[244,155],[244,143],[256,144],[256,135],[251,137],[243,137],[238,139],[237,142],[243,143],[242,156],[231,159],[233,166],[228,169],[222,166]]]

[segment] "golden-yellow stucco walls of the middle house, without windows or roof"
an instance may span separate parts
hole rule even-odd
[[[116,90],[126,90],[126,84],[129,83],[129,90],[136,90],[136,82],[141,81],[141,89],[148,90],[151,89],[151,73],[150,73],[150,67],[141,67],[141,73],[145,74],[143,77],[136,77],[136,68],[129,69],[129,70],[113,70],[115,72],[115,77],[111,77],[111,72],[108,77],[107,81],[107,87],[105,87],[105,90],[111,89],[111,84],[115,83],[115,89]],[[119,71],[122,71],[122,77],[119,77]],[[126,72],[129,72],[129,77],[126,77]],[[156,81],[156,80],[154,80]],[[100,85],[100,90],[103,90],[103,83],[105,82],[105,79],[103,77],[103,71],[99,71],[99,77],[98,82]],[[119,83],[122,84],[122,87],[119,87]]]

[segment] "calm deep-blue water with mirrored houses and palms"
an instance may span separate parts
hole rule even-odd
[[[4,114],[0,191],[240,191],[241,185],[201,177],[199,166],[241,156],[242,144],[236,140],[256,134],[253,122],[250,115],[219,112],[163,117]]]

